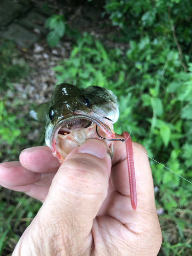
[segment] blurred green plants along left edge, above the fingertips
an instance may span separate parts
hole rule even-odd
[[[12,41],[0,41],[0,70],[0,159],[13,161],[18,158],[20,150],[32,144],[27,139],[31,124],[26,122],[23,113],[23,105],[28,102],[9,98],[10,94],[16,94],[14,84],[29,73],[26,62]]]

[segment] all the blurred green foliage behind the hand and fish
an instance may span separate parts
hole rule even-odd
[[[112,25],[119,27],[112,40],[129,44],[123,50],[110,48],[87,32],[70,30],[61,15],[53,15],[46,26],[50,29],[50,47],[56,46],[65,33],[73,38],[70,57],[53,68],[57,84],[68,82],[81,89],[97,85],[112,90],[120,110],[115,132],[132,130],[132,140],[143,144],[150,157],[192,182],[191,11],[189,0],[105,0],[102,17],[109,17]],[[29,71],[24,63],[10,65],[10,58],[17,54],[12,43],[6,47],[2,43],[0,54],[5,92],[7,87],[12,88],[11,81]],[[19,148],[32,145],[26,138],[31,125],[18,118],[16,108],[15,113],[9,112],[4,95],[0,102],[1,152],[14,160]],[[192,185],[153,160],[150,163],[157,210],[164,210],[159,215],[163,234],[159,255],[191,255]],[[34,206],[31,209],[24,197],[19,207],[23,207],[26,218],[34,217],[39,204],[30,202]],[[18,225],[23,215],[15,215],[18,205],[9,205],[5,208],[5,200],[1,202],[1,211],[17,219]],[[0,251],[9,237],[15,236],[10,221],[0,226]]]

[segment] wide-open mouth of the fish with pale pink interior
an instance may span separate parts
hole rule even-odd
[[[81,114],[82,113],[82,114]],[[102,121],[101,121],[102,120]],[[78,111],[76,114],[65,117],[55,125],[51,135],[53,155],[62,163],[67,155],[77,146],[88,139],[114,138],[113,122],[104,117],[96,117]],[[113,142],[107,141],[109,154],[113,156]]]

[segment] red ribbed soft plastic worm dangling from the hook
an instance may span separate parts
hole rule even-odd
[[[132,208],[134,210],[136,210],[136,208],[137,208],[137,190],[136,190],[136,180],[135,180],[135,168],[134,168],[134,161],[133,161],[132,140],[131,140],[129,133],[127,133],[127,132],[123,132],[122,136],[125,139],[125,145],[126,145],[126,159],[127,159],[129,181],[130,181],[131,204],[132,204]]]

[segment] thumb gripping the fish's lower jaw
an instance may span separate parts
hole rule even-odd
[[[89,234],[108,193],[111,158],[107,152],[105,142],[90,139],[61,164],[44,203],[54,223],[60,225],[62,220],[75,226],[75,232]]]

